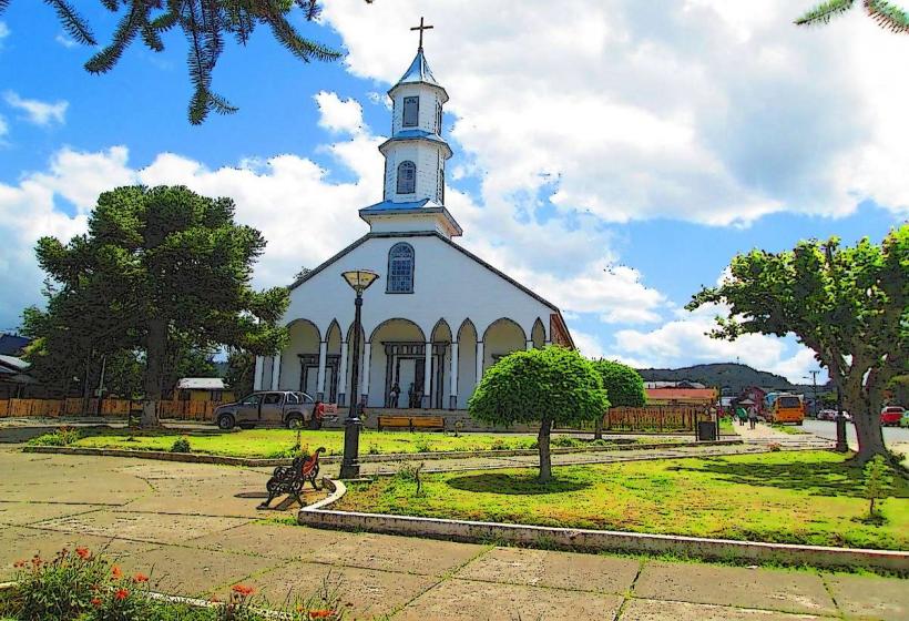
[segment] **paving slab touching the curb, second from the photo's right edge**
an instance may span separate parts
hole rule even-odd
[[[820,576],[807,571],[646,562],[635,597],[783,612],[836,614]]]

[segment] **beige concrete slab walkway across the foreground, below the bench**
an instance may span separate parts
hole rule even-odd
[[[106,548],[157,590],[272,601],[339,581],[358,619],[909,618],[909,582],[675,563],[263,523],[267,471],[0,449],[0,580],[63,546]],[[309,497],[315,498],[315,495]],[[293,519],[293,508],[284,513]]]

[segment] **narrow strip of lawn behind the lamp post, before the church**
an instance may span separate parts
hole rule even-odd
[[[168,450],[180,432],[149,432],[126,429],[90,428],[80,429],[83,437],[71,446],[95,448],[124,448],[133,450]],[[289,429],[245,429],[241,431],[204,430],[185,434],[193,452],[224,455],[229,457],[277,458],[290,455],[296,441],[296,431]],[[685,438],[627,438],[620,441],[641,444],[687,441]],[[325,447],[326,455],[339,455],[344,450],[344,431],[340,429],[300,431],[300,441],[309,450]],[[37,438],[34,444],[43,444]],[[568,436],[553,437],[553,446],[584,446],[599,444],[607,446],[610,440],[591,442]],[[436,452],[448,450],[533,449],[537,437],[529,434],[461,434],[453,436],[441,432],[410,434],[408,431],[371,431],[360,435],[360,452],[367,455],[391,452]]]

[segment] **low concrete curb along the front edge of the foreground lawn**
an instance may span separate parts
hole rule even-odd
[[[338,495],[338,498],[340,496],[343,492]],[[302,526],[329,530],[380,532],[469,543],[494,541],[524,548],[585,552],[673,553],[705,560],[809,564],[830,569],[865,567],[899,576],[909,573],[909,552],[896,550],[765,543],[323,509],[321,507],[334,502],[334,500],[331,502],[328,500],[326,498],[316,505],[300,509],[297,513],[297,522]]]

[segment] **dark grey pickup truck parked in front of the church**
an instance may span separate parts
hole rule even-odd
[[[277,426],[288,428],[318,425],[313,416],[316,400],[306,393],[295,390],[263,390],[253,393],[231,404],[215,408],[215,423],[221,429],[239,427]]]

